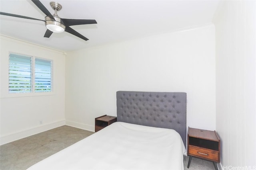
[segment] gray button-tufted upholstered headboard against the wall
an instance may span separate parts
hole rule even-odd
[[[117,121],[176,130],[186,147],[186,93],[116,92]]]

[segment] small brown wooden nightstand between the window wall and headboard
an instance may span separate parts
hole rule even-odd
[[[107,127],[108,125],[111,125],[114,122],[116,122],[116,117],[114,116],[103,115],[100,117],[96,117],[95,132],[98,132],[99,130],[103,129],[104,127]]]

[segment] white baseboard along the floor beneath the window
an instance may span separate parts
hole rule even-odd
[[[65,120],[57,121],[57,122],[54,122],[54,123],[49,123],[49,124],[46,124],[46,125],[41,125],[41,126],[34,127],[34,128],[31,128],[31,129],[26,129],[26,130],[23,130],[23,131],[18,131],[16,133],[12,133],[12,134],[9,134],[9,135],[4,135],[4,136],[0,137],[0,145],[4,145],[6,143],[16,141],[16,140],[22,139],[24,137],[29,137],[31,135],[35,135],[37,133],[48,131],[50,129],[54,129],[56,127],[60,127],[60,126],[63,126],[63,125],[65,125]]]

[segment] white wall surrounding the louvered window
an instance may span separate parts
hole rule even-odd
[[[56,51],[0,36],[0,141],[1,145],[65,124],[65,55]],[[8,94],[9,52],[51,59],[53,92]],[[42,124],[40,124],[42,121]]]

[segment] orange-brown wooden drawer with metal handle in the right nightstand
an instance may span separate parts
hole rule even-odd
[[[188,154],[190,155],[194,155],[194,156],[199,156],[202,158],[206,158],[209,160],[214,160],[216,162],[218,162],[218,155],[219,152],[216,150],[210,150],[210,149],[205,149],[205,148],[200,148],[200,147],[196,147],[193,145],[189,145],[189,150],[188,150]]]

